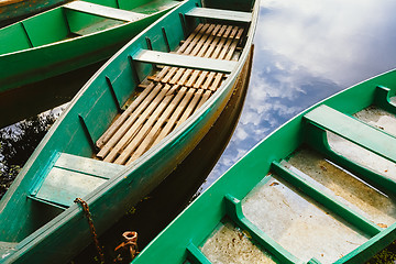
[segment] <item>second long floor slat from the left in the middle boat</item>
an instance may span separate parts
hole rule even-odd
[[[127,120],[122,123],[122,125],[117,130],[117,132],[111,136],[111,139],[102,146],[100,152],[97,154],[97,157],[105,158],[105,156],[110,152],[111,147],[113,147],[117,142],[124,135],[125,131],[128,131],[133,122],[138,119],[138,116],[141,114],[150,105],[152,100],[160,92],[162,86],[157,85],[146,97],[145,100],[140,103],[133,114],[129,116]]]

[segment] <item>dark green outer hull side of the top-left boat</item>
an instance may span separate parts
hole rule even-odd
[[[108,59],[167,11],[86,36],[0,55],[0,68],[8,69],[0,73],[0,94]]]

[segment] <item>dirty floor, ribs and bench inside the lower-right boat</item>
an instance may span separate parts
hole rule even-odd
[[[387,147],[396,143],[394,92],[377,86],[360,109],[322,105],[294,121],[302,122],[293,135],[295,151],[270,161],[270,172],[248,194],[226,195],[226,217],[201,244],[189,245],[189,260],[364,263],[389,244],[396,229],[396,152]]]

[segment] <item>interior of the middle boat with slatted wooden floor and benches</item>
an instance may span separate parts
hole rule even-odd
[[[219,10],[198,3],[188,2],[191,6],[184,6],[188,12],[173,13],[139,36],[81,89],[57,130],[47,135],[38,152],[44,157],[29,164],[30,176],[24,178],[31,179],[21,182],[26,194],[20,199],[28,195],[24,210],[32,211],[21,215],[21,224],[29,222],[29,228],[2,234],[2,241],[21,241],[76,197],[87,196],[123,170],[227,80],[245,48],[251,3],[241,4],[246,6],[244,11],[234,11],[240,8],[233,4]]]

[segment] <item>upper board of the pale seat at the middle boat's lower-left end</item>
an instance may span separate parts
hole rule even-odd
[[[54,167],[78,172],[109,179],[124,169],[124,166],[100,162],[94,158],[62,153]]]

